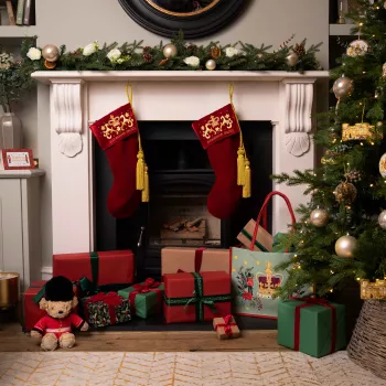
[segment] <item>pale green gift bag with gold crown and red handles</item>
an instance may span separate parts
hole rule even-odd
[[[275,267],[290,260],[293,254],[255,250],[260,221],[265,216],[268,202],[274,195],[279,195],[286,201],[292,226],[296,222],[288,197],[280,192],[271,192],[266,197],[257,217],[249,248],[230,248],[234,314],[270,319],[277,319],[278,317],[279,299],[274,299],[274,293],[286,282],[288,274],[277,271]]]

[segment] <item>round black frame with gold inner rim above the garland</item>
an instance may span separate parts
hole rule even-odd
[[[227,25],[242,10],[245,0],[213,0],[199,11],[174,12],[152,0],[118,0],[126,13],[144,29],[167,37],[179,31],[186,39],[210,35]]]

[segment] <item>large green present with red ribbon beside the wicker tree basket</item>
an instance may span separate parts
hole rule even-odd
[[[345,349],[345,307],[315,298],[280,300],[278,343],[314,357]]]

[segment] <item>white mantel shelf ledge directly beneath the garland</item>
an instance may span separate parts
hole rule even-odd
[[[281,82],[290,81],[301,82],[302,79],[325,79],[329,78],[328,71],[309,71],[304,73],[290,73],[285,71],[37,71],[32,77],[45,84],[66,81],[85,82],[197,82],[197,81],[248,81],[248,82]]]

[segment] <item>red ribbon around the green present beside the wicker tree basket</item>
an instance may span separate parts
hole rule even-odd
[[[336,309],[325,299],[318,298],[291,298],[290,300],[304,301],[304,304],[297,305],[294,309],[294,333],[293,333],[293,350],[299,351],[300,347],[300,311],[307,307],[322,305],[331,310],[331,351],[335,352],[336,345]]]

